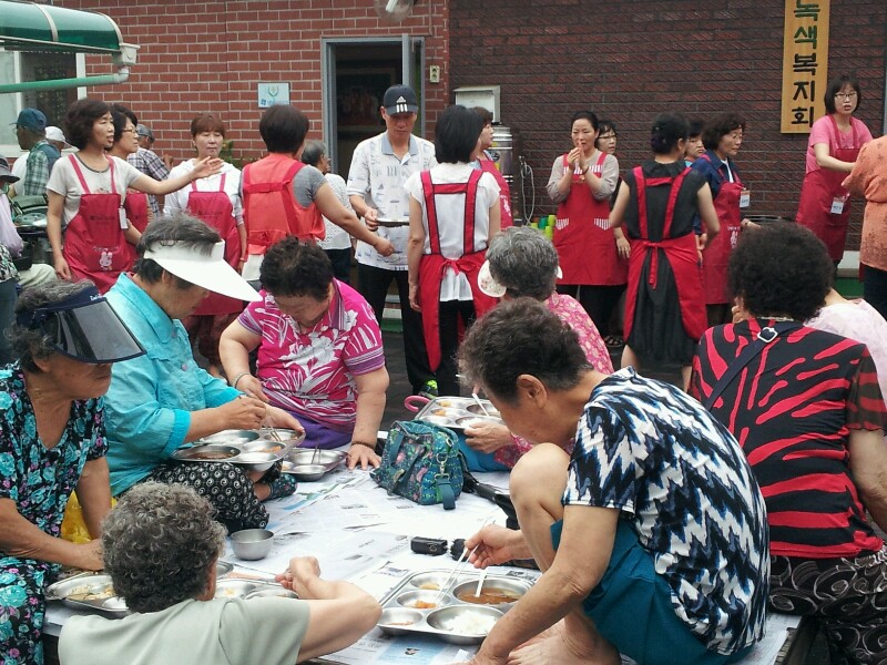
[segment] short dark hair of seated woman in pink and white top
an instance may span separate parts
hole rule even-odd
[[[310,296],[319,301],[329,294],[333,264],[319,245],[287,236],[265,253],[258,276],[272,296]]]

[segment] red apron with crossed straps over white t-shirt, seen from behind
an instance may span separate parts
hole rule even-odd
[[[491,298],[480,290],[478,273],[483,265],[487,250],[475,250],[475,202],[478,193],[478,181],[481,171],[472,171],[467,183],[452,183],[436,185],[431,182],[431,174],[422,171],[422,193],[425,195],[425,209],[428,215],[428,241],[431,254],[424,254],[419,262],[419,305],[422,308],[422,331],[425,344],[428,348],[428,365],[431,371],[440,367],[440,285],[443,273],[452,268],[457,274],[463,273],[471,286],[471,297],[475,301],[475,316],[480,318],[488,310],[496,307],[497,299]],[[462,235],[462,256],[446,258],[440,253],[440,233],[438,229],[437,206],[435,195],[465,194],[465,234]],[[460,330],[460,339],[463,330]]]

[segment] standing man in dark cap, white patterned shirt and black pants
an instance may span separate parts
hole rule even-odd
[[[404,184],[414,173],[437,165],[434,144],[412,135],[418,110],[416,93],[410,88],[392,85],[385,91],[380,111],[386,130],[355,149],[348,172],[348,196],[367,226],[378,227],[378,234],[395,246],[395,253],[386,257],[366,243],[357,243],[358,290],[381,321],[388,287],[395,280],[400,297],[407,376],[415,393],[436,397],[437,381],[428,364],[421,315],[409,305],[407,278],[409,195]],[[402,225],[394,225],[400,222]]]

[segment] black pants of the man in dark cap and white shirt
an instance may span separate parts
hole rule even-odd
[[[428,351],[425,347],[422,335],[422,319],[418,311],[409,306],[409,284],[406,270],[388,270],[357,264],[357,290],[367,299],[376,319],[381,325],[381,315],[385,310],[385,297],[391,280],[397,284],[397,294],[400,298],[400,317],[404,324],[404,355],[407,360],[407,378],[412,386],[412,392],[419,392],[425,382],[435,378],[428,366]]]

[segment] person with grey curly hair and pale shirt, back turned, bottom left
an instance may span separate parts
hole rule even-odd
[[[102,528],[104,570],[135,612],[74,616],[59,640],[65,665],[228,663],[292,665],[339,651],[381,614],[366,592],[322,580],[317,561],[293,559],[281,581],[299,600],[214,597],[225,528],[191,488],[143,483]]]

